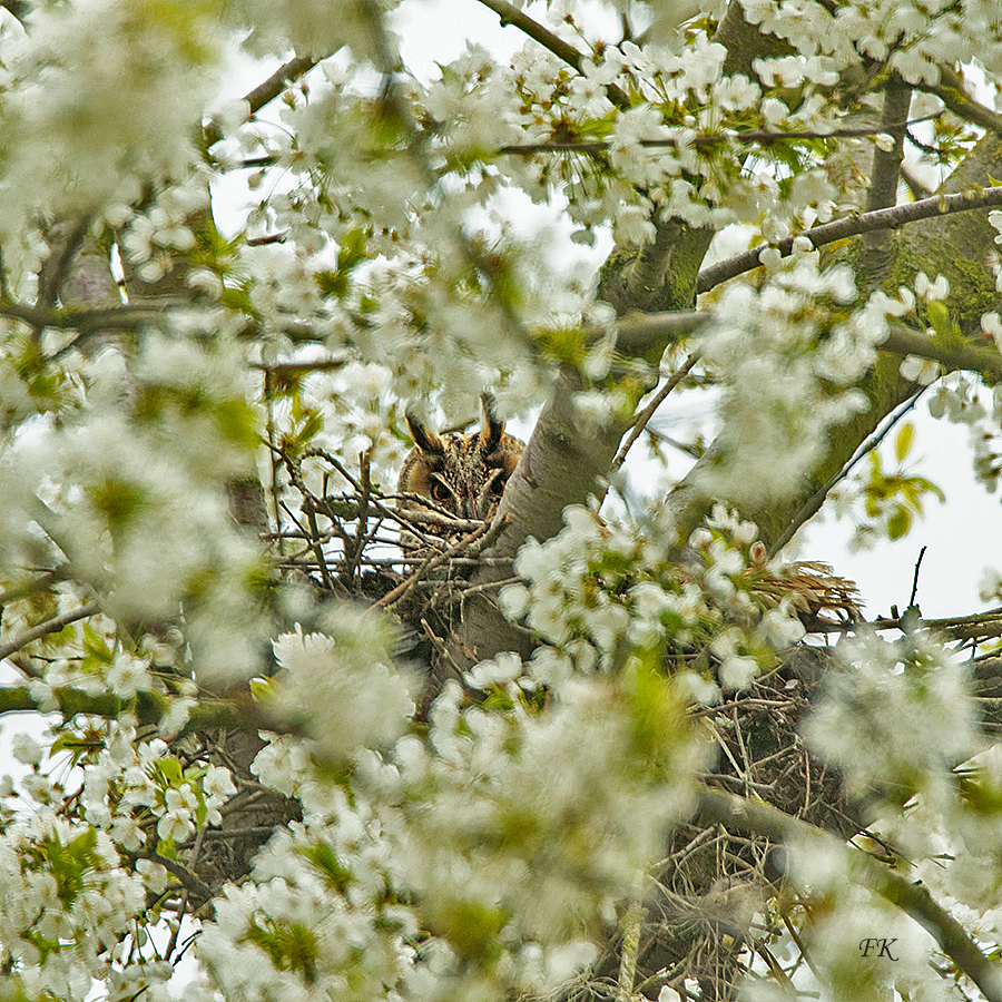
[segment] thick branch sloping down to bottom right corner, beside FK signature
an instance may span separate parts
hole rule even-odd
[[[770,842],[798,842],[834,837],[775,807],[734,794],[703,787],[697,819],[719,824],[728,831],[759,835]],[[990,961],[966,930],[933,900],[921,883],[913,883],[858,849],[845,847],[851,865],[863,884],[914,918],[940,944],[940,949],[978,985],[988,1002],[1002,1002],[1002,969]]]

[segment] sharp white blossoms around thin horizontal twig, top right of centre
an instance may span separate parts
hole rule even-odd
[[[513,84],[523,98],[522,143],[608,137],[612,170],[599,174],[587,156],[573,154],[556,167],[552,157],[499,163],[529,190],[533,180],[540,193],[562,181],[568,210],[586,232],[611,220],[619,240],[642,244],[654,238],[654,207],[665,218],[676,216],[694,226],[720,228],[743,220],[788,230],[797,219],[809,224],[827,218],[832,206],[844,199],[832,183],[834,175],[819,165],[806,168],[780,195],[766,171],[744,170],[748,151],[737,141],[741,130],[755,128],[778,135],[829,128],[821,124],[832,108],[815,92],[834,81],[829,69],[812,73],[808,68],[805,73],[798,66],[796,82],[806,94],[788,107],[779,94],[790,76],[787,62],[756,63],[760,79],[773,85],[764,95],[744,73],[725,71],[726,50],[701,31],[687,33],[681,45],[641,48],[625,41],[602,43],[600,52],[584,61],[580,75],[570,75],[556,57],[527,46],[505,84]],[[640,100],[629,108],[613,107],[608,92],[612,85]],[[708,136],[716,141],[694,143]]]

